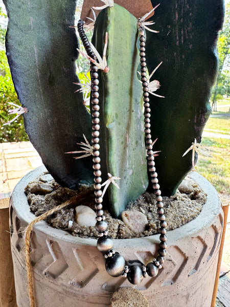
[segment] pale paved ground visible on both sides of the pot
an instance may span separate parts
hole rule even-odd
[[[42,161],[30,142],[2,143],[0,155],[0,199],[3,199],[9,197],[17,182]],[[230,212],[227,222],[216,307],[230,307]]]

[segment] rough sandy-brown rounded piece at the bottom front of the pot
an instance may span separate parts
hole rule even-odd
[[[109,307],[149,307],[145,296],[134,288],[122,287],[115,291],[111,297]]]

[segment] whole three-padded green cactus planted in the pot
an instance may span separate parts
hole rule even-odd
[[[70,28],[75,1],[36,0],[31,5],[4,0],[4,4],[9,15],[7,56],[18,98],[28,109],[24,121],[29,138],[61,185],[93,184],[91,157],[74,160],[65,153],[84,142],[83,134],[89,141],[91,135],[83,95],[74,93],[73,82],[79,83],[74,63],[78,41]],[[159,33],[146,33],[149,73],[163,61],[155,78],[161,84],[159,95],[166,98],[150,95],[150,104],[152,138],[158,138],[157,149],[162,151],[156,168],[164,195],[173,194],[192,169],[192,154],[182,155],[194,138],[200,142],[210,114],[215,47],[223,21],[222,0],[213,0],[212,5],[210,10],[199,0],[164,2],[154,15]],[[107,173],[121,178],[120,189],[109,185],[107,196],[108,209],[120,216],[147,187],[153,189],[144,145],[136,18],[116,4],[99,13],[93,43],[100,55],[106,32],[110,70],[99,76],[101,170],[103,181]]]

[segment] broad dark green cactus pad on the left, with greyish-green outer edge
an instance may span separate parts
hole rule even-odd
[[[91,157],[73,159],[66,151],[90,141],[90,115],[82,104],[75,60],[78,41],[75,1],[4,0],[9,24],[7,57],[22,106],[25,129],[44,165],[63,186],[93,183]]]

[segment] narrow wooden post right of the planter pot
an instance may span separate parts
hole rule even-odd
[[[216,296],[217,296],[218,283],[219,283],[219,277],[220,277],[220,265],[221,265],[221,259],[222,259],[222,254],[223,254],[224,237],[225,237],[225,231],[226,231],[226,225],[227,225],[228,205],[223,206],[222,209],[224,212],[223,231],[222,231],[222,237],[221,237],[221,242],[220,242],[219,257],[218,257],[217,270],[216,270],[216,279],[215,279],[215,284],[214,284],[211,307],[216,306]]]

